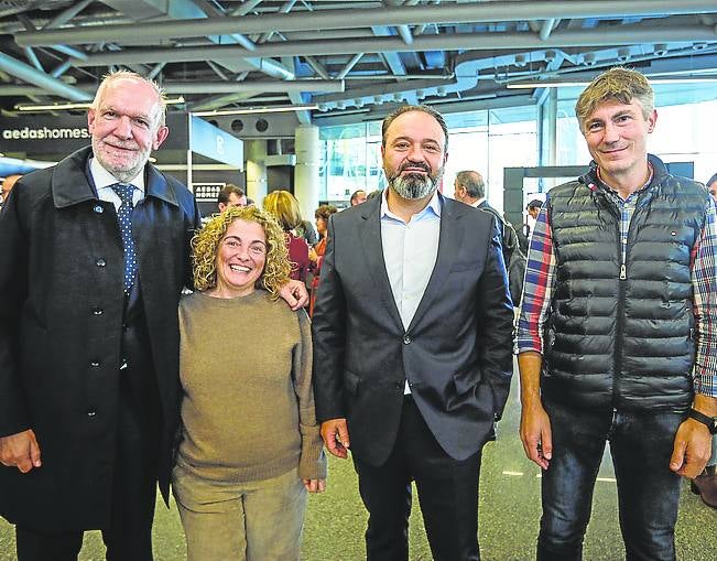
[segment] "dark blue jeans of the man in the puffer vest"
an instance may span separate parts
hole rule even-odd
[[[627,561],[673,561],[680,476],[670,471],[670,457],[685,414],[586,411],[548,400],[543,406],[553,458],[542,478],[537,560],[583,558],[595,479],[609,441]]]

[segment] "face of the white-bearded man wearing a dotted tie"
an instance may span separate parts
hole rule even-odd
[[[169,129],[160,122],[160,99],[148,83],[110,82],[87,114],[95,158],[119,181],[129,182],[160,148]]]

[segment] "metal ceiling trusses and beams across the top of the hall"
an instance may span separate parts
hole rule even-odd
[[[616,64],[717,77],[715,0],[0,1],[0,108],[87,101],[128,67],[185,110],[316,105],[300,122],[384,103],[444,111],[524,104],[506,86]]]

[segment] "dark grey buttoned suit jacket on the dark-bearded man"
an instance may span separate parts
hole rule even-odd
[[[383,262],[380,198],[329,218],[312,326],[317,418],[346,418],[352,453],[372,465],[393,449],[406,379],[457,460],[482,446],[508,398],[513,311],[496,219],[441,204],[436,265],[408,330]]]

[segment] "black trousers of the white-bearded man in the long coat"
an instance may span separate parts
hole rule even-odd
[[[129,386],[123,376],[120,381],[111,519],[109,527],[102,529],[102,540],[109,561],[151,561],[159,439],[156,428],[148,427],[141,420]],[[82,457],[77,458],[77,462],[82,461]],[[75,561],[83,546],[83,533],[47,533],[17,527],[18,560]]]

